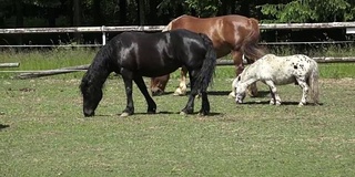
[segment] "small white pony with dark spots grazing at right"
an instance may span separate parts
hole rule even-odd
[[[281,104],[275,85],[291,83],[298,84],[303,90],[300,106],[307,103],[308,91],[311,91],[313,103],[316,105],[320,103],[318,65],[316,61],[306,55],[276,56],[274,54],[266,54],[256,60],[244,69],[232,83],[232,87],[235,90],[236,103],[243,103],[246,87],[256,81],[268,85],[272,96],[270,104]]]

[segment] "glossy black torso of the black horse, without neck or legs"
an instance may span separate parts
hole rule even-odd
[[[173,30],[161,33],[123,32],[112,40],[116,65],[143,76],[169,74],[181,65],[201,65],[205,46],[197,33]]]

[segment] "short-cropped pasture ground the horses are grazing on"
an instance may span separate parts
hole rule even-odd
[[[179,115],[187,97],[172,94],[153,97],[159,114],[146,115],[134,87],[136,114],[124,118],[123,82],[114,76],[90,118],[80,79],[0,82],[0,176],[355,175],[354,79],[322,79],[322,105],[300,108],[298,86],[277,87],[281,106],[268,105],[263,84],[260,97],[236,105],[227,98],[232,79],[216,77],[204,117]]]

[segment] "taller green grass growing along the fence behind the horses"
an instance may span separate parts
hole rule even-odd
[[[312,51],[312,56],[354,56],[355,48],[335,48],[328,46],[318,52]],[[0,77],[9,79],[18,75],[19,73],[8,73],[6,71],[33,71],[33,70],[51,70],[59,67],[68,67],[81,64],[91,63],[92,59],[97,53],[97,49],[55,49],[51,51],[22,51],[17,52],[14,50],[1,51],[0,63],[19,62],[19,67],[0,69]],[[288,55],[295,53],[295,49],[283,46],[283,48],[271,48],[268,49],[272,53],[278,55]],[[322,52],[324,51],[324,52]],[[226,56],[225,59],[230,59]],[[339,77],[354,77],[355,63],[321,63],[320,71],[321,76],[325,79],[339,79]],[[216,77],[230,77],[234,75],[233,66],[219,66],[223,67],[223,72],[217,71]],[[79,79],[81,74],[67,74],[60,76],[62,79],[73,77]],[[178,79],[179,72],[172,74],[172,77]]]

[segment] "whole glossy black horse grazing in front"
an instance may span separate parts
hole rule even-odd
[[[126,107],[121,116],[134,113],[132,81],[145,97],[148,113],[155,113],[156,104],[142,76],[165,75],[185,65],[192,90],[181,113],[192,114],[195,95],[201,93],[200,114],[206,115],[210,113],[206,90],[212,81],[215,63],[216,54],[212,41],[205,34],[187,30],[161,33],[123,32],[102,46],[81,81],[83,114],[94,115],[102,98],[102,85],[112,72],[121,74],[124,81]]]

